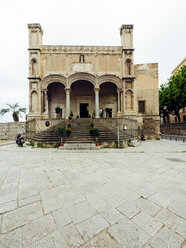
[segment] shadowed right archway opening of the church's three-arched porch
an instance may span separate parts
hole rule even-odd
[[[105,82],[100,85],[99,103],[104,118],[117,117],[117,86],[114,83]]]

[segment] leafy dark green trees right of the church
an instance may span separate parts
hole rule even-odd
[[[164,122],[169,121],[169,114],[175,114],[180,121],[179,111],[186,106],[186,65],[160,86],[159,103]]]

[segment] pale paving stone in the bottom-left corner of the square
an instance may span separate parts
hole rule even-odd
[[[17,229],[7,234],[0,234],[0,247],[21,248],[22,247],[21,230]]]

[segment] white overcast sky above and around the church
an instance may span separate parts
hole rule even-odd
[[[1,1],[0,109],[28,109],[28,23],[41,24],[46,45],[113,46],[121,25],[134,24],[134,63],[158,62],[159,84],[186,56],[186,0]]]

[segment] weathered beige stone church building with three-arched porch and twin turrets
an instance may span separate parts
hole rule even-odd
[[[157,125],[150,136],[159,135],[158,64],[134,65],[133,25],[121,26],[121,46],[46,46],[40,24],[28,29],[28,120],[55,119],[56,107],[60,118],[99,118],[103,109],[103,117],[136,118],[141,132],[148,116]]]

